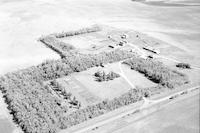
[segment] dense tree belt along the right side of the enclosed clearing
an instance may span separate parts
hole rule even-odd
[[[133,57],[123,63],[131,66],[131,69],[143,73],[153,82],[169,88],[174,88],[189,82],[186,75],[178,71],[171,70],[158,61]]]

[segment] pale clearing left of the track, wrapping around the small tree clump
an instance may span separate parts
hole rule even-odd
[[[131,86],[122,77],[105,82],[96,81],[94,77],[95,72],[102,70],[115,71],[117,70],[115,66],[117,66],[116,63],[112,63],[105,68],[93,67],[87,71],[63,77],[58,79],[58,81],[66,88],[69,88],[67,91],[75,95],[83,106],[95,104],[104,99],[119,97],[131,89]]]

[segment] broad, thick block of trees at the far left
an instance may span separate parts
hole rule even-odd
[[[26,133],[55,133],[63,109],[52,90],[44,87],[31,71],[19,71],[1,77],[0,89],[4,94],[13,119]]]

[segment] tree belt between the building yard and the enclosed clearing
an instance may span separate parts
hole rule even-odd
[[[37,66],[43,80],[52,80],[73,72],[87,70],[101,64],[117,62],[133,57],[134,54],[125,50],[116,49],[99,54],[71,53],[62,60],[50,60]]]

